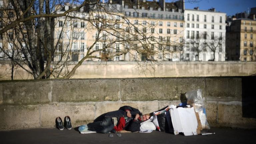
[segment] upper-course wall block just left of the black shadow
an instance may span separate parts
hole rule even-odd
[[[241,78],[206,78],[206,99],[208,97],[230,98],[230,101],[241,101],[242,79]]]

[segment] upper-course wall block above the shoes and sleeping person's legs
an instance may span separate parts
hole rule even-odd
[[[54,102],[86,102],[119,100],[118,79],[53,80]]]

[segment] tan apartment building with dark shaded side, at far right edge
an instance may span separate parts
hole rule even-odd
[[[255,47],[256,20],[233,18],[231,24],[227,26],[227,60],[255,61]]]

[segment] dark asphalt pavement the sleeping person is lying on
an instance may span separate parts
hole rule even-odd
[[[256,129],[211,128],[211,135],[184,136],[159,131],[152,133],[80,134],[71,130],[29,129],[0,131],[0,144],[247,144],[255,143]]]

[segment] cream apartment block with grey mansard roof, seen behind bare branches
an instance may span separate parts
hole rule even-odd
[[[102,1],[104,3],[104,1]],[[113,0],[111,1],[112,10],[118,15],[105,15],[109,20],[115,21],[117,29],[123,29],[126,31],[133,30],[130,27],[126,27],[124,19],[120,18],[125,16],[126,19],[133,25],[135,25],[146,36],[154,37],[152,40],[151,48],[158,51],[156,55],[150,56],[136,56],[134,53],[125,53],[120,56],[111,58],[112,61],[130,61],[139,58],[140,60],[169,60],[179,61],[183,54],[183,35],[184,35],[184,3],[183,1],[177,1],[167,3],[165,0],[160,1],[123,1]],[[76,7],[76,5],[67,4],[59,8],[58,13],[63,13],[66,10]],[[86,7],[80,9],[75,14],[77,17],[89,18],[91,14],[88,14]],[[81,60],[87,53],[88,48],[95,42],[97,36],[97,29],[93,28],[91,24],[88,24],[82,19],[70,19],[56,18],[55,20],[55,42],[60,42],[60,48],[66,47],[69,49],[69,59],[72,61]],[[65,23],[65,24],[64,24]],[[65,25],[65,26],[64,26]],[[127,28],[127,29],[126,29]],[[61,36],[61,31],[65,33],[65,36]],[[133,30],[135,31],[135,30]],[[125,32],[113,33],[112,36],[108,34],[100,33],[101,40],[99,40],[93,47],[93,50],[99,50],[109,43],[111,40],[116,40],[120,37],[129,37]],[[136,36],[133,35],[133,36]],[[157,41],[154,44],[153,41]],[[163,43],[163,44],[161,44]],[[111,45],[115,51],[111,50],[110,53],[115,53],[125,49],[129,49],[130,45],[115,42]],[[134,47],[140,47],[141,44],[134,43]],[[163,51],[165,49],[166,51]],[[57,51],[57,52],[58,52]],[[99,51],[95,56],[102,56],[102,52]],[[56,56],[61,58],[61,55]],[[98,59],[87,59],[98,60]]]

